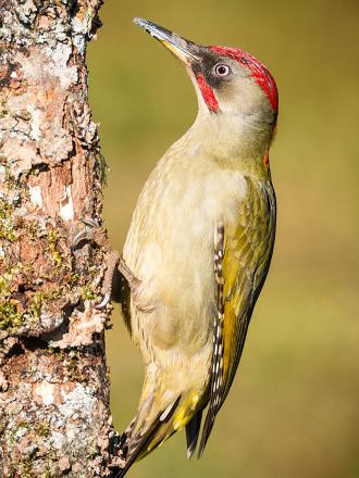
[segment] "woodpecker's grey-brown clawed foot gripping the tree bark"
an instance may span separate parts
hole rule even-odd
[[[111,300],[112,278],[120,261],[117,251],[109,246],[106,230],[94,219],[81,219],[85,228],[78,231],[72,239],[71,250],[74,251],[82,242],[92,242],[104,253],[107,269],[102,281],[102,300],[95,305],[96,309],[104,309]]]

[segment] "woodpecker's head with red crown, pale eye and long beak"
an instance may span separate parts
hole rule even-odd
[[[250,142],[255,150],[268,151],[278,97],[273,76],[259,60],[240,49],[194,43],[144,18],[134,22],[185,66],[198,98],[196,123],[206,124],[208,138],[215,136],[219,153],[225,152],[221,138],[231,154],[239,144],[248,149]]]

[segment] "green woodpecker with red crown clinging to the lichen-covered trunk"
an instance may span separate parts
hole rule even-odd
[[[233,382],[275,235],[269,148],[277,117],[270,72],[243,50],[203,47],[134,21],[177,56],[198,115],[157,164],[137,202],[122,273],[124,315],[145,363],[126,465],[186,427],[199,456]]]

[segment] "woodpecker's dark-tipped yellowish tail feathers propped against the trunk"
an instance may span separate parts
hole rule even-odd
[[[196,449],[201,411],[193,405],[191,393],[185,397],[178,395],[165,407],[156,414],[158,402],[154,403],[152,395],[145,401],[122,436],[121,451],[125,458],[125,466],[116,478],[123,478],[131,466],[148,453],[160,446],[173,433],[186,426],[187,456],[191,456]]]

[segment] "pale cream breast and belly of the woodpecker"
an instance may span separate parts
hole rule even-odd
[[[175,150],[160,161],[139,197],[124,248],[141,280],[135,336],[145,327],[157,347],[180,347],[189,356],[211,343],[214,230],[219,221],[237,221],[245,196],[240,173],[207,158]],[[138,309],[151,312],[144,319]]]

